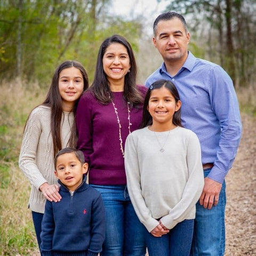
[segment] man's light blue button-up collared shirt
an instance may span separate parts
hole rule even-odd
[[[208,177],[220,183],[231,168],[242,133],[239,106],[229,75],[219,65],[188,58],[175,76],[166,71],[165,63],[151,74],[146,86],[166,79],[177,87],[182,124],[194,131],[202,149],[202,163],[214,163]]]

